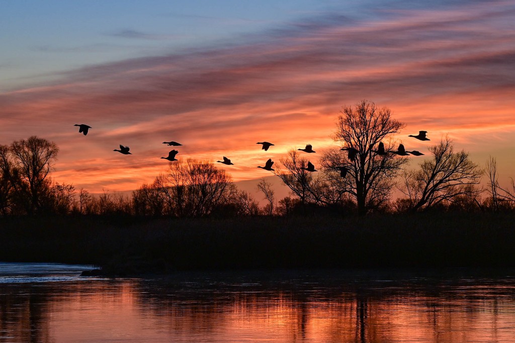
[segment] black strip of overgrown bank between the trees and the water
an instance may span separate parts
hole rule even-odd
[[[515,267],[515,215],[0,218],[0,261],[191,269]]]

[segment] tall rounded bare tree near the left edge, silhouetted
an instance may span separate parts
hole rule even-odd
[[[31,136],[27,140],[12,142],[10,152],[14,157],[14,168],[22,181],[17,191],[24,193],[27,213],[33,214],[49,196],[51,183],[47,177],[59,148],[54,142]]]

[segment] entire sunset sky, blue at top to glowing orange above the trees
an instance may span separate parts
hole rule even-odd
[[[496,158],[502,184],[515,177],[511,0],[0,5],[0,144],[55,142],[56,182],[134,190],[165,173],[162,142],[177,141],[177,158],[228,157],[219,166],[251,189],[268,158],[338,146],[342,106],[363,99],[406,124],[407,150],[449,135],[478,165]],[[419,130],[431,141],[408,138]]]

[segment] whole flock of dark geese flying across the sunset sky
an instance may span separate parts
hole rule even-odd
[[[79,127],[79,133],[82,133],[84,135],[87,135],[88,134],[88,130],[91,129],[91,126],[89,125],[85,125],[85,124],[75,124],[74,126],[78,126]],[[413,135],[413,134],[410,134],[408,135],[408,137],[413,137],[413,138],[416,138],[420,141],[429,141],[430,139],[428,139],[426,137],[426,133],[427,131],[419,131],[419,134],[417,135]],[[174,141],[171,141],[171,142],[163,142],[163,144],[167,144],[168,146],[182,146],[182,144],[180,143],[177,143],[177,142],[174,142]],[[271,147],[272,143],[269,143],[269,142],[258,142],[256,144],[261,144],[262,145],[262,150],[265,150],[265,151],[268,151],[268,148]],[[311,144],[307,144],[306,147],[304,149],[297,149],[297,150],[300,150],[300,151],[304,151],[304,152],[308,152],[308,153],[312,153],[312,152],[316,152],[315,150],[313,150],[313,146]],[[346,148],[341,148],[340,150],[343,150],[343,151],[347,151],[348,155],[348,159],[352,162],[354,162],[356,160],[356,157],[357,157],[357,154],[359,152],[359,150],[353,148],[353,147],[346,147]],[[118,151],[120,153],[123,153],[124,155],[132,155],[132,153],[129,152],[129,147],[128,146],[123,146],[120,144],[120,149],[114,149],[113,151]],[[381,156],[384,156],[384,155],[387,155],[388,153],[394,153],[396,155],[399,155],[399,156],[408,156],[408,155],[414,155],[414,156],[422,156],[424,155],[422,152],[420,151],[417,151],[417,150],[413,150],[413,151],[406,151],[406,149],[404,148],[404,145],[403,144],[399,144],[399,147],[397,148],[397,151],[386,151],[385,150],[385,146],[383,144],[383,142],[380,142],[379,145],[377,146],[377,150],[372,150],[373,152],[375,152],[377,155],[381,155]],[[168,160],[168,161],[178,161],[175,156],[179,153],[179,151],[173,149],[173,150],[170,150],[168,152],[168,156],[167,157],[161,157],[162,159],[165,159],[165,160]],[[224,156],[224,160],[223,161],[216,161],[216,162],[219,162],[219,163],[223,163],[223,164],[227,164],[227,165],[234,165],[234,163],[231,162],[230,159],[228,159],[227,157]],[[268,161],[266,161],[265,163],[265,166],[258,166],[258,168],[262,168],[262,169],[265,169],[265,170],[270,170],[270,171],[273,171],[275,169],[272,168],[272,165],[273,165],[273,161],[272,159],[268,159]],[[301,167],[301,169],[304,169],[306,171],[317,171],[315,169],[315,166],[313,165],[313,163],[311,162],[307,162],[307,166],[306,167]],[[340,171],[340,176],[345,178],[347,176],[347,167],[345,166],[336,166],[334,167],[334,169],[336,170],[339,170]]]

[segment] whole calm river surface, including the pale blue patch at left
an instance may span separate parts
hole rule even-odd
[[[0,263],[0,342],[512,342],[515,271],[80,277]]]

